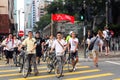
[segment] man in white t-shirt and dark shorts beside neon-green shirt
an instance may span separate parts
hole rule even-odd
[[[72,65],[73,70],[76,69],[76,63],[78,62],[78,38],[76,38],[75,32],[72,32],[71,38],[68,42],[68,51],[70,51],[70,54],[72,56]],[[75,58],[75,59],[74,59]]]

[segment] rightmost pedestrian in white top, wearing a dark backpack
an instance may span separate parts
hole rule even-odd
[[[104,36],[104,43],[105,43],[105,55],[109,55],[110,52],[110,48],[109,48],[109,43],[110,43],[110,31],[108,30],[108,27],[105,26],[104,27],[104,31],[103,31],[103,36]]]

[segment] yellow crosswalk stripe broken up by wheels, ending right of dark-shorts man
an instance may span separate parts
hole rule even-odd
[[[80,66],[80,67],[77,67],[77,68],[89,68],[89,66]],[[64,68],[64,70],[68,70],[68,68]],[[40,72],[39,73],[44,73],[44,72],[47,72],[47,70],[39,70]],[[19,76],[19,75],[22,75],[21,73],[14,73],[14,74],[1,74],[0,77],[10,77],[10,76]]]

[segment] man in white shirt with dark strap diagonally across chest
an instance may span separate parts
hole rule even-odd
[[[53,50],[55,49],[56,58],[58,60],[59,70],[60,70],[60,76],[58,76],[58,78],[64,76],[63,75],[63,64],[64,64],[64,53],[66,50],[65,45],[66,45],[66,42],[62,39],[62,33],[57,32],[57,39],[54,41],[50,52],[53,52]]]

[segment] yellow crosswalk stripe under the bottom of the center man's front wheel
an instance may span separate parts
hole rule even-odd
[[[64,73],[64,75],[67,76],[67,75],[98,72],[98,71],[100,71],[100,70],[99,69],[92,69],[92,70],[84,70],[84,71],[79,71],[79,72]],[[31,80],[31,79],[33,80],[33,79],[49,78],[49,77],[54,77],[54,76],[55,76],[55,74],[51,74],[51,75],[45,75],[45,76],[35,76],[35,77],[28,77],[28,78],[16,78],[16,79],[10,79],[10,80]]]

